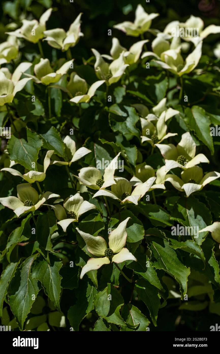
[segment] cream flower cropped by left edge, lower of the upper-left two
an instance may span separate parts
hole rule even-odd
[[[31,67],[31,63],[21,63],[11,75],[7,68],[0,69],[0,106],[11,103],[17,92],[23,90],[31,78],[20,80],[22,74]]]

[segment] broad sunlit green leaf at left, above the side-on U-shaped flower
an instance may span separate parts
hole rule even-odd
[[[43,145],[37,133],[26,129],[26,139],[19,139],[12,135],[9,139],[7,149],[10,159],[24,166],[26,169],[33,170],[32,164],[37,164],[38,153]]]

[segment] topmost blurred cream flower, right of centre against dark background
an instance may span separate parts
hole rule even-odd
[[[124,21],[114,25],[114,28],[120,29],[125,32],[128,36],[138,37],[144,32],[148,31],[151,26],[152,20],[159,16],[159,13],[150,13],[144,11],[144,8],[141,4],[137,5],[135,11],[135,21]]]

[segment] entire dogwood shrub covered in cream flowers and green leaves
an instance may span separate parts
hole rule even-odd
[[[133,3],[120,17],[93,4],[88,18],[72,1],[4,2],[0,318],[12,330],[166,330],[167,318],[209,331],[220,314],[220,26]],[[99,9],[103,45],[90,34]]]

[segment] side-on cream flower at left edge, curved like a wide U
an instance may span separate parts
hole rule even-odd
[[[5,167],[4,169],[1,169],[1,171],[10,172],[13,176],[19,176],[29,183],[34,183],[35,181],[42,182],[46,177],[46,171],[47,171],[48,166],[50,165],[50,157],[52,156],[53,153],[54,153],[54,150],[47,151],[46,156],[43,161],[43,172],[29,171],[29,172],[25,173],[24,175],[22,175],[22,173],[20,173],[19,171],[11,169],[11,168],[7,168],[7,167]]]

